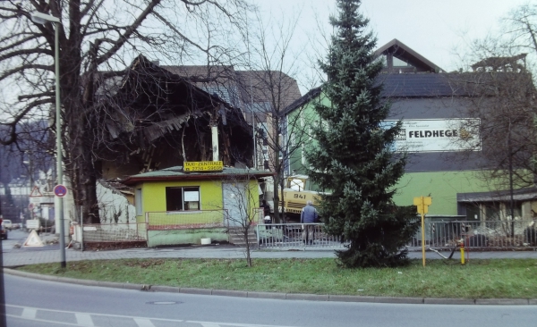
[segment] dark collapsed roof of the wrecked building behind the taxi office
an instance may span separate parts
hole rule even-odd
[[[251,165],[251,130],[242,111],[139,55],[100,92],[99,155],[118,165],[138,163],[151,171],[184,161],[211,160],[211,126],[217,126],[219,159]],[[102,88],[102,86],[101,86]],[[141,165],[140,165],[141,164]]]

